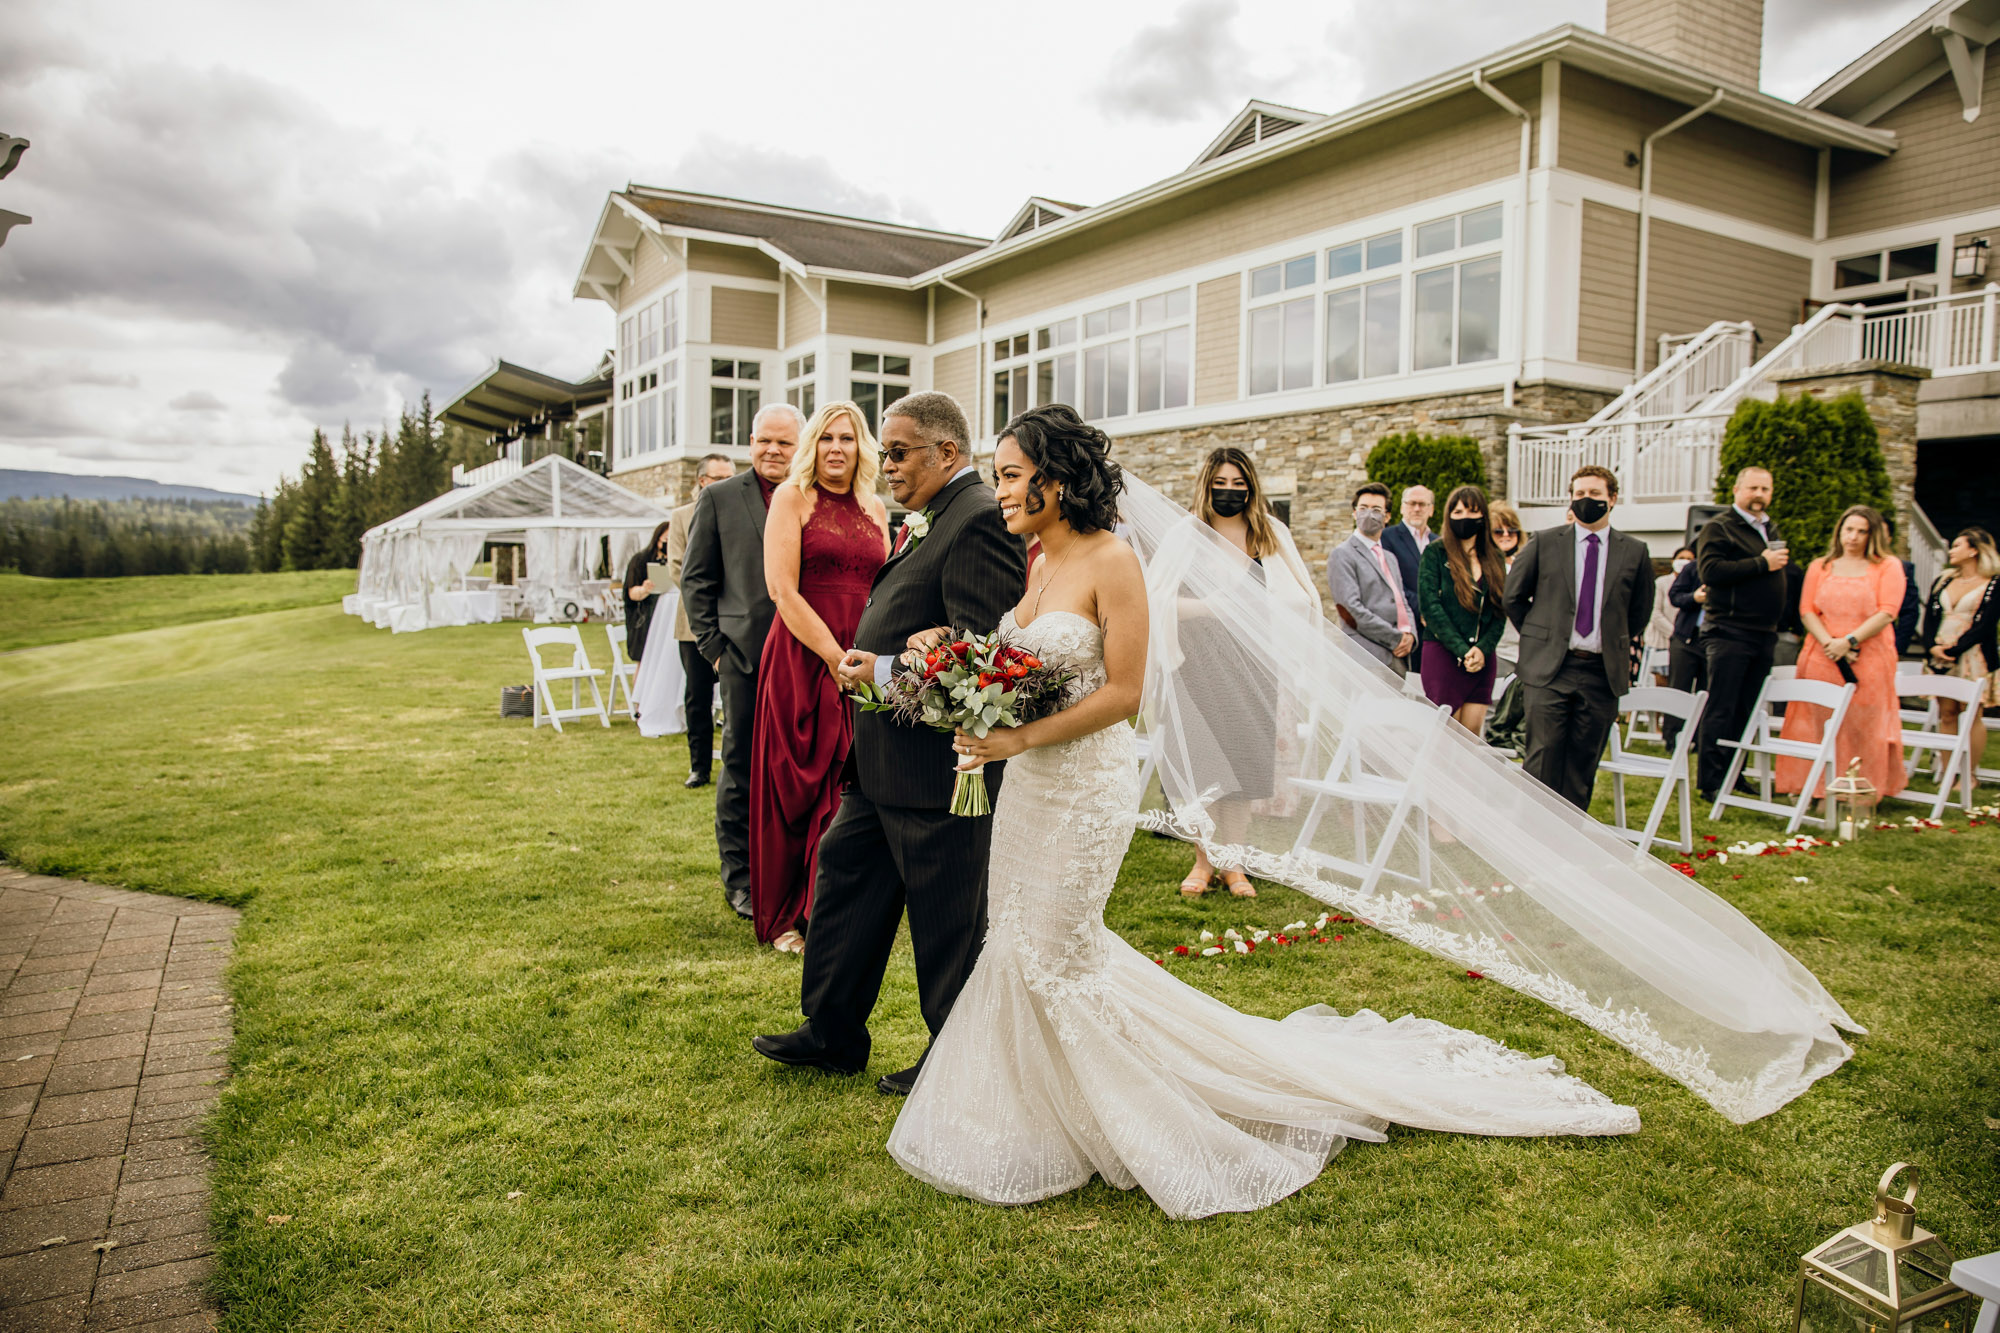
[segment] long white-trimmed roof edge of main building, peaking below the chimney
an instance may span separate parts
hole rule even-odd
[[[1990,4],[2000,0],[1964,0],[1966,4]],[[1262,166],[1276,158],[1292,152],[1302,152],[1306,148],[1338,140],[1346,134],[1356,134],[1360,130],[1378,126],[1382,122],[1394,120],[1396,116],[1408,114],[1430,102],[1440,102],[1450,96],[1458,96],[1470,88],[1478,86],[1478,80],[1498,80],[1510,74],[1520,74],[1538,66],[1544,60],[1562,60],[1564,64],[1576,66],[1580,70],[1590,70],[1614,82],[1622,82],[1634,88],[1644,88],[1662,98],[1684,102],[1686,106],[1698,106],[1708,102],[1714,94],[1722,98],[1710,108],[1710,116],[1720,116],[1722,120],[1734,120],[1736,124],[1746,124],[1754,130],[1764,130],[1766,134],[1776,134],[1778,138],[1788,138],[1798,144],[1812,148],[1852,148],[1856,152],[1868,152],[1876,156],[1888,156],[1896,150],[1896,136],[1886,130],[1870,130],[1840,116],[1832,116],[1820,110],[1810,110],[1804,106],[1794,106],[1784,98],[1774,98],[1756,88],[1744,84],[1730,84],[1718,80],[1706,70],[1698,70],[1690,64],[1680,64],[1678,60],[1668,60],[1650,50],[1618,42],[1604,36],[1602,32],[1592,32],[1588,28],[1576,28],[1564,24],[1552,28],[1536,38],[1518,42],[1504,50],[1486,56],[1484,60],[1458,66],[1434,78],[1410,84],[1396,92],[1374,98],[1372,102],[1362,102],[1360,106],[1350,106],[1344,112],[1332,116],[1320,116],[1302,124],[1296,130],[1286,130],[1276,138],[1264,138],[1250,146],[1238,148],[1236,152],[1224,152],[1220,156],[1196,162],[1178,176],[1168,176],[1166,180],[1154,182],[1142,190],[1134,190],[1122,198],[1108,200],[1104,204],[1094,204],[1068,218],[1058,218],[1046,226],[1038,226],[1030,232],[1008,240],[996,240],[984,250],[976,250],[964,258],[940,264],[930,272],[918,274],[914,286],[924,282],[934,282],[940,278],[958,278],[970,274],[986,264],[1014,258],[1016,254],[1030,250],[1034,246],[1052,244],[1058,238],[1074,236],[1076,232],[1098,226],[1112,218],[1120,218],[1142,208],[1150,208],[1178,194],[1198,190],[1202,186],[1214,184],[1236,172]],[[1256,110],[1256,102],[1246,108]],[[1274,108],[1276,112],[1286,112],[1288,108]],[[1300,114],[1300,112],[1292,112]],[[1494,108],[1494,114],[1504,114]],[[1236,130],[1242,130],[1242,118],[1238,118]],[[1218,140],[1226,144],[1228,140]]]

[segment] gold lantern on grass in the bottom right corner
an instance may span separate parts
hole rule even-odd
[[[1910,1189],[1890,1183],[1908,1171]],[[1876,1213],[1798,1261],[1792,1333],[1958,1333],[1978,1313],[1952,1283],[1952,1251],[1916,1225],[1916,1167],[1896,1163],[1876,1185]]]

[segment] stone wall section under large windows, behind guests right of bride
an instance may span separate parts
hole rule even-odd
[[[1190,504],[1194,476],[1212,448],[1234,444],[1246,450],[1268,492],[1290,492],[1292,538],[1306,562],[1318,564],[1354,530],[1354,488],[1368,480],[1368,450],[1384,434],[1470,434],[1486,458],[1490,494],[1506,496],[1506,428],[1512,422],[1586,420],[1614,396],[1596,388],[1524,384],[1514,394],[1514,406],[1504,406],[1500,390],[1364,402],[1118,436],[1112,456],[1172,500]]]

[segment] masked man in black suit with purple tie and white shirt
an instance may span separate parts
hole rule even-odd
[[[1570,478],[1568,528],[1542,532],[1514,556],[1506,614],[1520,630],[1526,769],[1580,811],[1598,757],[1632,687],[1632,640],[1652,618],[1646,542],[1612,528],[1618,478],[1596,464]]]

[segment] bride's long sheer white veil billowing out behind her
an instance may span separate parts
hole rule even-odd
[[[1862,1029],[1740,911],[1408,699],[1130,472],[1120,516],[1166,795],[1142,823],[1588,1023],[1736,1123],[1852,1055],[1834,1029]]]

